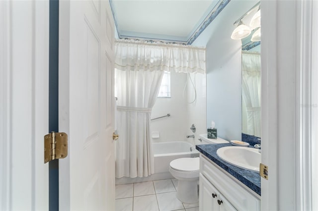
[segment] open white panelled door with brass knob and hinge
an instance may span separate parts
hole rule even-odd
[[[60,1],[60,210],[114,210],[114,24],[109,2]]]

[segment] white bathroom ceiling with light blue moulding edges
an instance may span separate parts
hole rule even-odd
[[[111,0],[110,4],[119,38],[191,44],[229,1]]]

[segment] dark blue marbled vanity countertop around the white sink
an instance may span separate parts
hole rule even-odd
[[[233,146],[230,143],[227,144],[204,144],[196,145],[196,149],[202,153],[204,156],[215,162],[221,168],[226,170],[232,176],[237,178],[255,193],[260,195],[260,175],[257,172],[245,170],[234,166],[217,156],[217,150],[221,147]]]

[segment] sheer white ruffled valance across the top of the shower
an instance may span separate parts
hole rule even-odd
[[[205,73],[206,50],[180,44],[115,41],[115,68],[120,70]]]

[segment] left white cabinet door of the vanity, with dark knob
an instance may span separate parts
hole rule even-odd
[[[200,173],[200,211],[219,211],[218,197],[220,193],[215,187]]]

